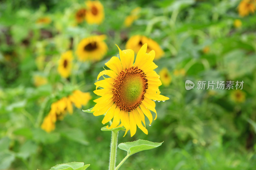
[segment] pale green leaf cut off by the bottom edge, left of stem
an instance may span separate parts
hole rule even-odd
[[[53,166],[50,170],[85,170],[90,164],[84,165],[83,162],[71,162]]]

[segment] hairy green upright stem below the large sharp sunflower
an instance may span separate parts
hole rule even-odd
[[[109,170],[115,170],[116,167],[117,136],[118,131],[113,130],[110,144]]]

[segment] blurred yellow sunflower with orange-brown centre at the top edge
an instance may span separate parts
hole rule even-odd
[[[100,24],[105,15],[104,7],[100,1],[86,1],[87,12],[85,19],[88,24]]]

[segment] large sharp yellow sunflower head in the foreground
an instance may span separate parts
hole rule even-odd
[[[114,117],[111,126],[107,126],[107,128],[124,126],[126,128],[124,135],[130,130],[131,136],[133,136],[136,133],[137,126],[145,134],[148,134],[145,126],[145,115],[151,124],[153,116],[150,110],[156,113],[154,101],[169,99],[160,95],[158,89],[158,86],[162,83],[154,71],[157,68],[157,65],[153,62],[155,51],[151,50],[146,53],[147,44],[144,44],[133,64],[134,51],[118,49],[120,60],[115,56],[112,57],[105,63],[111,70],[101,71],[98,75],[97,79],[103,75],[108,75],[109,78],[95,83],[96,90],[94,93],[102,97],[94,100],[96,104],[92,109],[94,111],[93,115],[99,116],[106,113],[102,120],[103,124]],[[103,89],[97,89],[98,87]],[[154,120],[156,120],[156,117]]]

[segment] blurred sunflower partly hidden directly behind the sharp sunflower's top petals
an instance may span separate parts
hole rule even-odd
[[[155,51],[156,53],[155,59],[159,59],[164,55],[164,51],[156,41],[142,35],[132,36],[127,41],[125,48],[132,49],[135,53],[138,53],[142,45],[145,43],[148,44],[147,53],[149,53],[149,51],[151,50]]]

